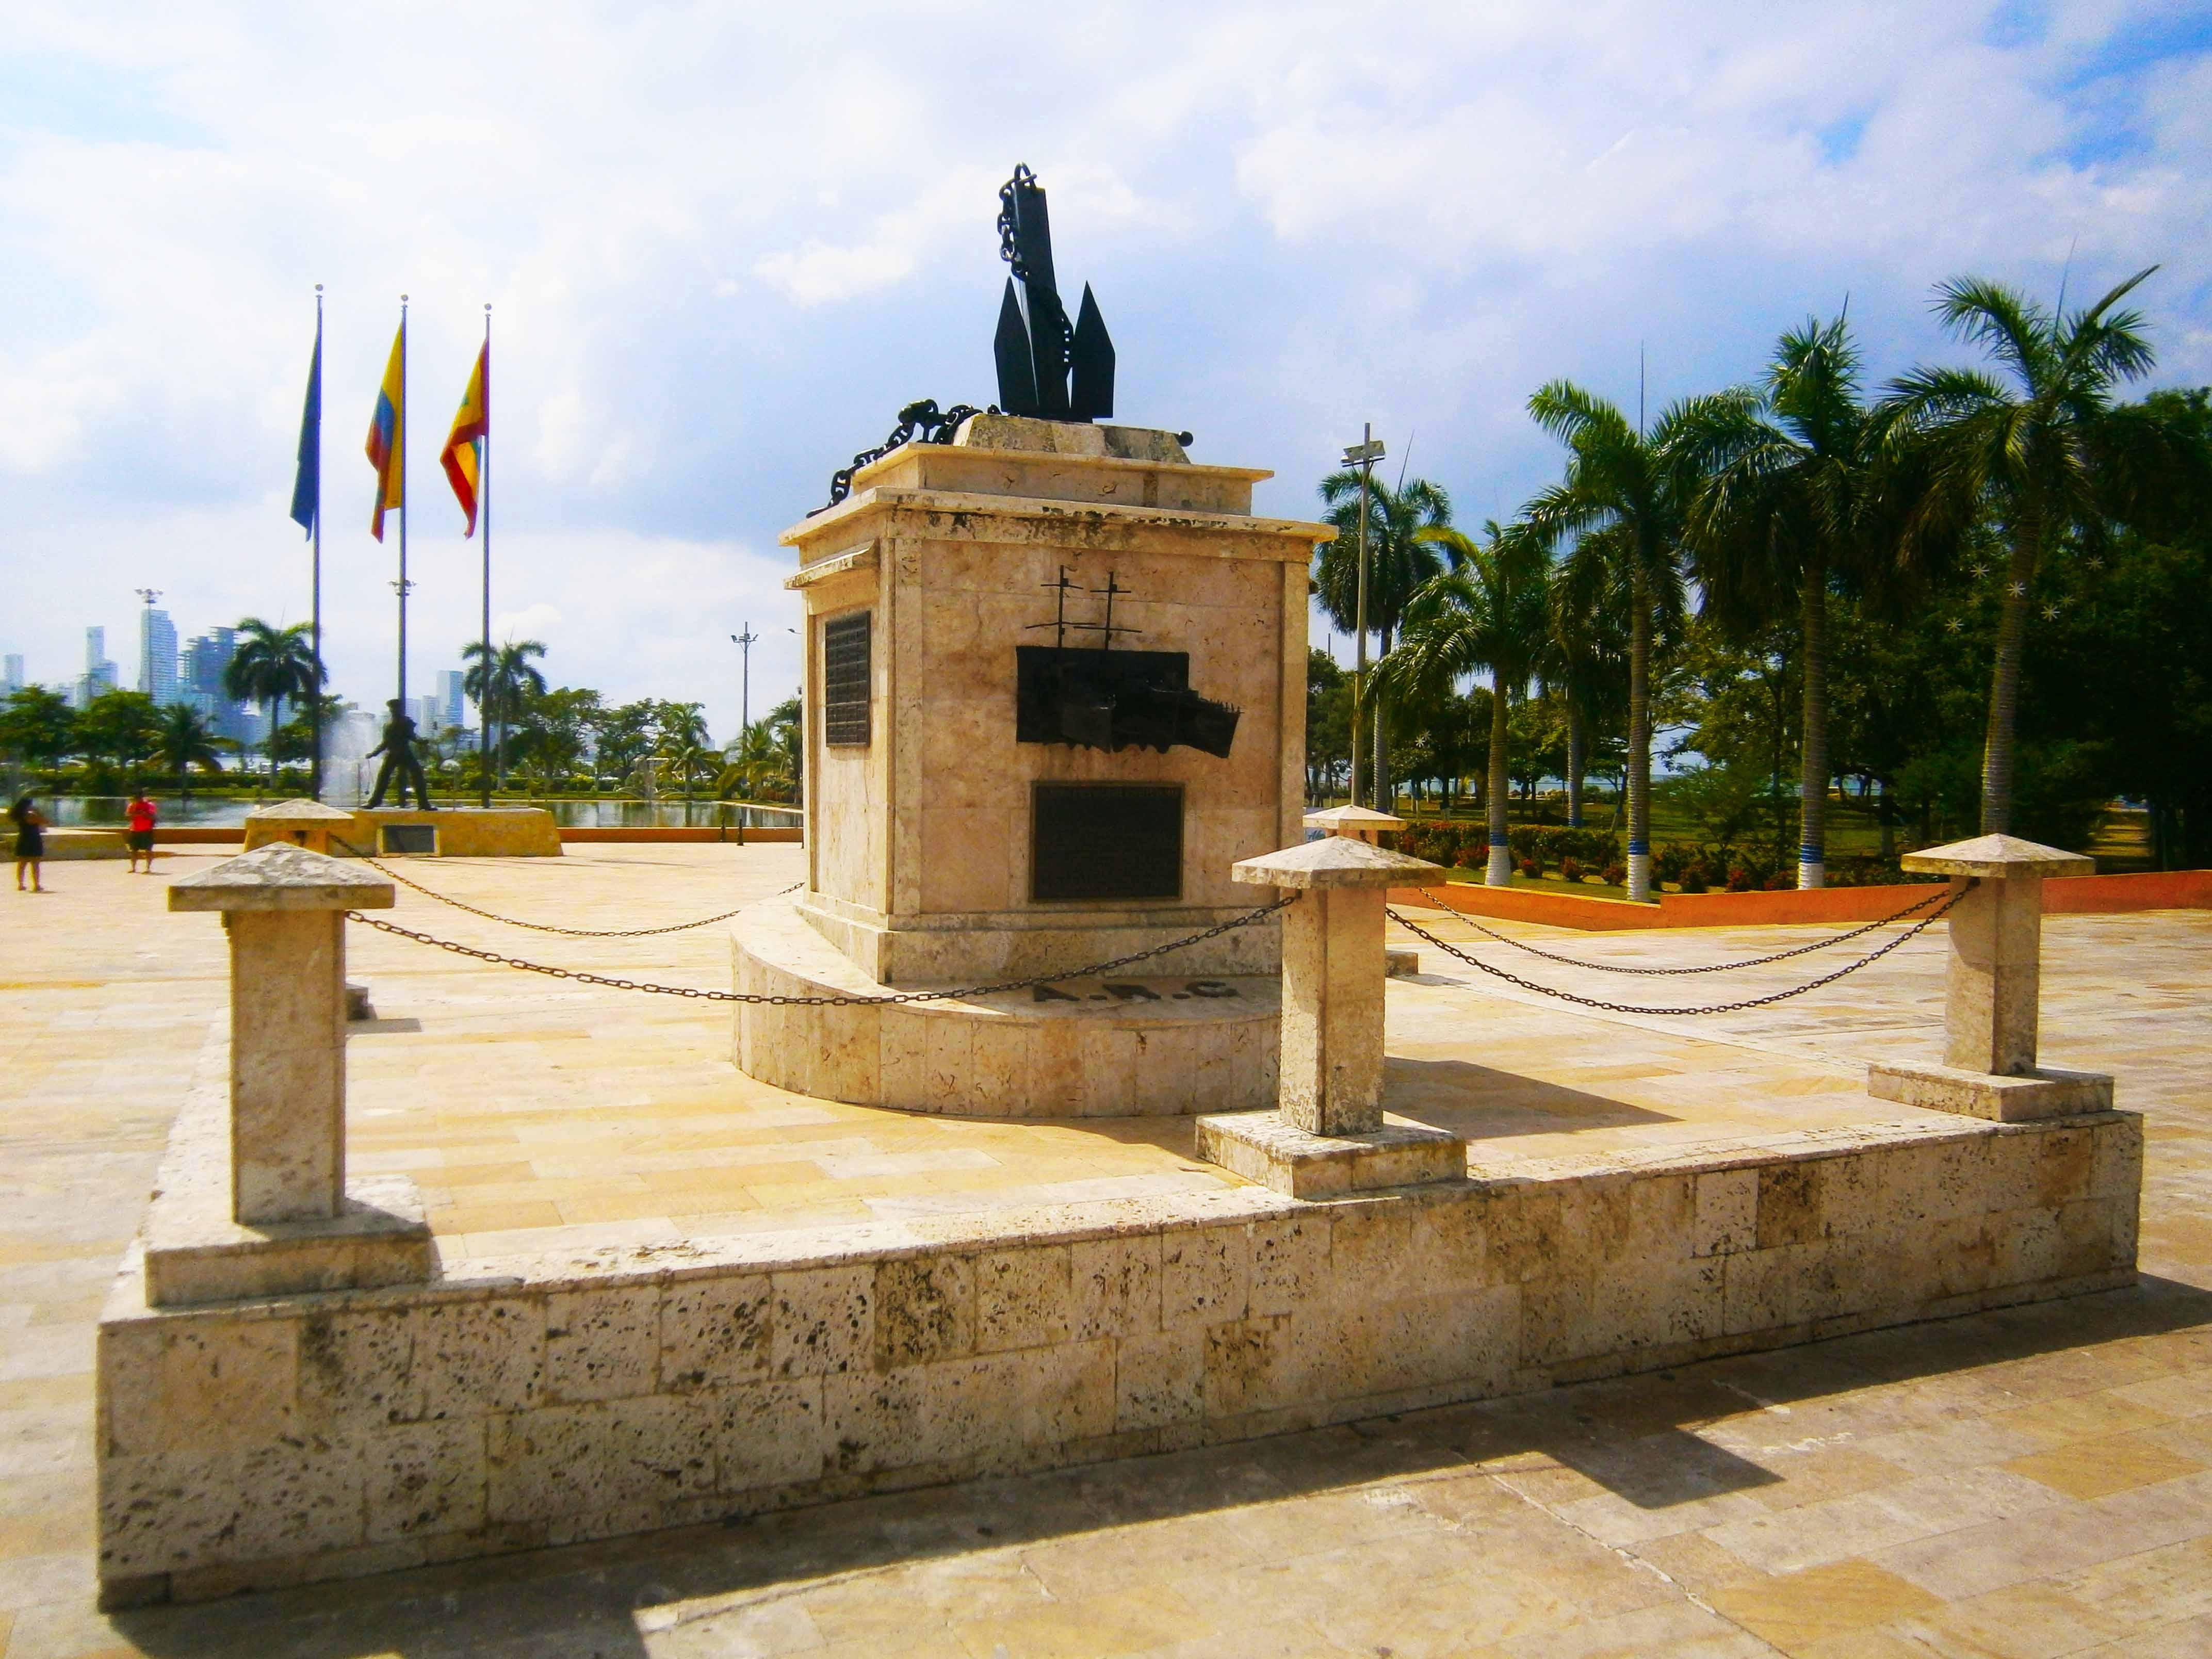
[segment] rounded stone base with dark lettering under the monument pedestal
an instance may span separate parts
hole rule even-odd
[[[730,929],[737,989],[894,995],[772,898]],[[1274,1106],[1281,987],[1263,978],[1053,980],[960,1002],[737,1004],[737,1068],[854,1106],[951,1117],[1175,1117]]]

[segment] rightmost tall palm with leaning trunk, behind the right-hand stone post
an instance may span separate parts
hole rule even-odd
[[[1980,345],[1997,374],[1913,369],[1891,385],[1893,411],[1924,445],[1929,507],[1911,538],[1949,540],[1978,513],[2008,544],[1997,650],[1982,737],[1982,834],[2013,821],[2013,734],[2020,659],[2035,577],[2068,538],[2108,524],[2159,531],[2208,493],[2212,458],[2163,405],[2115,405],[2126,380],[2150,372],[2143,316],[2115,310],[2157,265],[2139,270],[2084,312],[2031,301],[2013,288],[1962,276],[1936,290],[1936,314]]]

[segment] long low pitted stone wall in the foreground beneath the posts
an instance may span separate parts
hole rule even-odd
[[[1480,1148],[1478,1148],[1480,1159]],[[378,1573],[2126,1283],[2141,1119],[471,1261],[100,1327],[108,1604]]]

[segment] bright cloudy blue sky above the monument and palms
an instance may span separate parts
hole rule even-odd
[[[1363,422],[1506,518],[1528,394],[1759,374],[1849,303],[1878,380],[1969,361],[1931,288],[2141,270],[2212,383],[2212,7],[49,4],[0,0],[0,650],[135,679],[307,615],[290,524],[325,285],[332,686],[392,695],[361,453],[409,307],[409,692],[478,633],[436,449],[493,323],[493,633],[555,684],[737,726],[799,677],[779,533],[902,403],[995,396],[998,186],[1048,190],[1115,418],[1316,513]],[[1316,644],[1325,624],[1316,619]],[[1338,639],[1343,650],[1343,641]]]

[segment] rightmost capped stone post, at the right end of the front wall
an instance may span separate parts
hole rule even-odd
[[[2112,1108],[2112,1079],[2035,1064],[2044,876],[2088,876],[2093,858],[2017,836],[1975,836],[1905,854],[1905,869],[1971,883],[1951,907],[1944,1064],[1878,1064],[1867,1091],[2004,1124]]]

